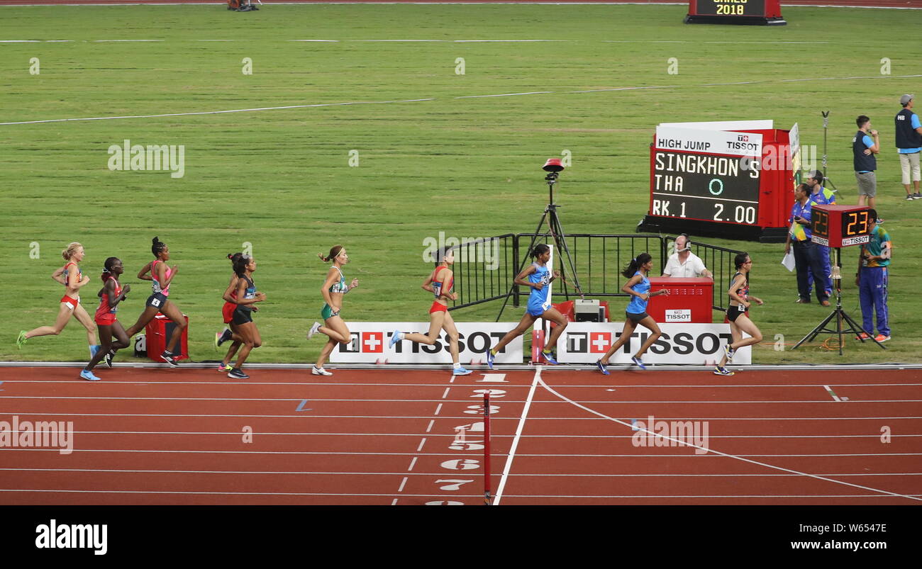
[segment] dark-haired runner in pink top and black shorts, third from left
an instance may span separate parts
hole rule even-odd
[[[183,337],[185,319],[183,318],[183,311],[169,299],[170,284],[176,276],[176,273],[179,273],[179,265],[173,265],[171,269],[167,268],[167,261],[170,261],[170,248],[159,238],[152,239],[150,252],[154,254],[156,259],[144,265],[141,271],[137,273],[137,278],[144,280],[150,279],[152,281],[151,288],[153,294],[148,296],[148,301],[146,303],[147,308],[144,309],[141,316],[137,317],[135,324],[125,331],[125,334],[131,338],[137,332],[143,330],[144,327],[148,325],[148,322],[154,319],[157,313],[160,312],[171,319],[173,324],[176,325],[176,328],[173,329],[170,336],[170,342],[167,343],[166,350],[160,354],[160,357],[167,364],[170,364],[170,366],[179,367],[179,364],[176,363],[176,356],[179,354],[173,354],[173,348],[176,347],[176,343]],[[147,276],[148,272],[150,276]]]

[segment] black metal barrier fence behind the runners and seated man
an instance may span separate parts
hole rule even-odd
[[[494,238],[480,238],[465,241],[448,248],[455,252],[455,292],[458,299],[449,309],[467,308],[474,305],[512,296],[513,306],[518,307],[521,296],[528,291],[513,285],[522,261],[528,257],[528,245],[534,233],[507,233]],[[573,258],[576,276],[586,297],[629,296],[621,292],[624,279],[621,270],[642,252],[654,255],[662,274],[669,255],[675,249],[675,238],[656,234],[598,235],[587,233],[567,234],[567,247]],[[550,236],[538,234],[537,243],[552,243]],[[714,273],[713,308],[726,310],[727,289],[736,268],[733,258],[738,250],[715,247],[691,241],[695,255],[701,257],[704,266]],[[557,251],[554,251],[555,255]],[[658,255],[658,259],[656,256]],[[557,261],[555,256],[555,261]],[[559,262],[555,262],[559,266]],[[564,272],[568,276],[569,270]],[[573,286],[558,281],[553,297],[578,297]]]

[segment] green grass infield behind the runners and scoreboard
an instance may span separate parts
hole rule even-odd
[[[425,320],[424,239],[532,231],[546,203],[539,167],[547,157],[573,156],[558,192],[567,231],[631,233],[648,203],[656,123],[798,122],[802,144],[820,145],[820,111],[831,110],[828,173],[840,203],[857,201],[854,118],[868,114],[882,134],[878,210],[896,250],[889,349],[849,341],[841,358],[818,345],[775,351],[775,334],[794,343],[829,309],[793,304],[797,286],[779,265],[782,245],[706,240],[751,251],[752,293],[766,301],[753,312],[766,340],[755,362],[922,361],[915,285],[922,254],[913,246],[922,203],[903,201],[892,147],[898,99],[920,90],[922,42],[909,17],[916,14],[786,7],[786,27],[764,28],[686,26],[684,13],[682,6],[0,8],[0,40],[38,41],[0,43],[0,122],[431,99],[0,125],[0,360],[86,356],[85,333],[73,321],[22,351],[14,343],[19,330],[53,322],[62,286],[49,275],[72,240],[88,252],[90,311],[102,261],[124,261],[124,282],[136,287],[119,311],[125,325],[148,295],[134,275],[151,259],[150,239],[166,241],[182,267],[171,298],[190,317],[194,360],[219,357],[211,338],[231,273],[224,255],[252,243],[267,301],[257,314],[265,345],[250,361],[310,362],[322,345],[304,340],[323,304],[319,251],[346,245],[347,276],[361,279],[346,298],[347,319]],[[39,75],[30,74],[31,58]],[[242,73],[243,58],[252,59],[252,75]],[[457,58],[464,75],[455,73]],[[670,58],[678,75],[668,74]],[[889,58],[890,75],[881,74],[881,58]],[[748,81],[755,83],[713,85]],[[572,92],[616,87],[650,88]],[[534,91],[550,93],[458,99]],[[110,171],[107,149],[124,139],[184,145],[183,178]],[[349,167],[350,150],[359,167]],[[844,255],[846,275],[856,255]],[[852,278],[845,307],[860,319]],[[455,319],[491,320],[498,310],[499,303],[481,305]],[[521,315],[519,308],[503,316]]]

